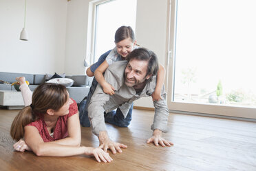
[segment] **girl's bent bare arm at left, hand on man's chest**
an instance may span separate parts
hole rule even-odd
[[[109,64],[107,63],[107,61],[105,60],[103,63],[100,64],[100,66],[95,70],[94,72],[94,76],[96,78],[96,80],[98,81],[98,83],[100,84],[101,87],[103,87],[103,91],[106,94],[109,95],[113,95],[115,94],[114,92],[114,87],[111,86],[111,84],[107,83],[107,81],[105,81],[103,73],[105,72],[105,70],[107,70],[107,68],[109,67]]]

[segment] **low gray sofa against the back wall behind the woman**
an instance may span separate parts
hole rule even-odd
[[[27,81],[30,82],[30,90],[39,86],[41,83],[45,83],[45,74],[23,74],[23,73],[12,73],[12,72],[0,72],[0,80],[6,81],[8,83],[13,83],[16,81],[16,77],[25,77]],[[89,87],[92,84],[92,77],[87,77],[86,75],[72,75],[66,76],[74,80],[72,87],[67,87],[67,91],[70,93],[70,97],[80,103],[84,97],[87,96],[89,92]],[[0,81],[0,90],[12,90],[16,91],[14,86],[11,84],[2,83]]]

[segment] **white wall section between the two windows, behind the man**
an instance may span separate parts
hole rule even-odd
[[[156,53],[159,62],[167,63],[168,0],[137,0],[136,39],[140,46]],[[153,108],[151,97],[138,99],[135,106]]]

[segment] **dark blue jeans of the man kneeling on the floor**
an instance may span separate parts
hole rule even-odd
[[[88,105],[89,105],[89,101],[91,101],[92,94],[94,94],[94,91],[97,85],[98,85],[98,82],[94,78],[92,81],[92,86],[89,89],[87,99],[81,101],[79,105],[79,119],[83,127],[91,126],[91,123],[89,122],[89,118],[88,118]],[[117,125],[120,127],[127,127],[131,122],[131,114],[132,114],[133,107],[134,107],[134,103],[132,103],[126,118],[124,118],[119,108],[117,108],[116,111],[113,110],[111,112],[108,112],[107,114],[104,114],[105,122],[111,123],[113,125]]]

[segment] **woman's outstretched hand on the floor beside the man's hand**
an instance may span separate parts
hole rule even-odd
[[[109,156],[109,153],[103,151],[103,145],[100,145],[98,148],[87,148],[85,154],[94,155],[98,162],[104,161],[105,163],[111,162],[113,159]]]

